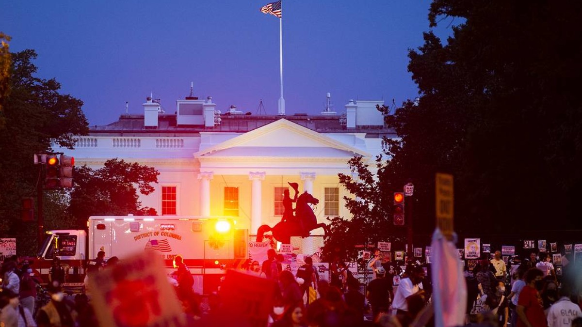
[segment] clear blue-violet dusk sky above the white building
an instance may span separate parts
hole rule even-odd
[[[35,49],[37,76],[84,101],[90,125],[143,113],[153,93],[176,111],[194,95],[268,114],[279,99],[279,19],[262,0],[2,1],[0,31],[10,51]],[[317,114],[349,99],[417,97],[407,72],[409,48],[423,44],[430,1],[283,0],[283,96],[286,113]],[[448,18],[437,29],[450,33]]]

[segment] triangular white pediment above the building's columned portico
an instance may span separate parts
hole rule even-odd
[[[351,158],[354,155],[370,157],[370,154],[353,145],[334,140],[289,120],[279,119],[210,145],[196,152],[194,157]]]

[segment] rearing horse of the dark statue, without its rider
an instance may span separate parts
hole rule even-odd
[[[282,221],[271,227],[269,225],[261,225],[257,230],[257,242],[262,241],[263,235],[266,232],[272,232],[275,240],[283,244],[291,243],[291,236],[305,236],[306,231],[311,231],[317,228],[324,229],[324,235],[327,233],[327,225],[325,223],[317,223],[317,218],[313,213],[313,209],[309,204],[318,204],[320,200],[314,198],[311,194],[304,191],[297,198],[295,206],[295,219],[291,221]],[[297,220],[301,219],[305,230],[301,230],[301,226]]]

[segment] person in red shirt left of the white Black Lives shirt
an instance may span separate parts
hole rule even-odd
[[[526,283],[517,301],[517,327],[548,327],[544,314],[540,290],[543,285],[544,273],[537,268],[526,272]]]

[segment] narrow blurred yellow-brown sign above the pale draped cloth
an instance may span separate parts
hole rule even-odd
[[[435,183],[437,226],[450,239],[453,235],[453,175],[437,173]]]

